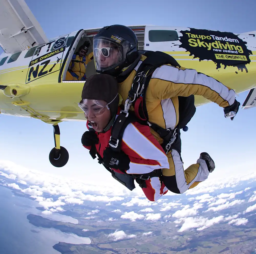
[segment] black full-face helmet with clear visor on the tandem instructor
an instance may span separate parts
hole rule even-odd
[[[137,45],[137,36],[129,27],[122,25],[103,27],[93,37],[96,71],[117,77],[126,67],[139,60]]]

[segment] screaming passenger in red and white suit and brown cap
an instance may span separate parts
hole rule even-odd
[[[98,155],[104,167],[115,171],[117,176],[125,174],[128,177],[125,181],[127,186],[132,185],[131,180],[134,182],[136,177],[136,182],[142,187],[148,200],[156,201],[168,191],[162,181],[161,169],[168,169],[169,163],[163,148],[151,134],[149,126],[133,118],[134,120],[131,120],[124,129],[121,151],[115,151],[109,146],[111,135],[116,128],[115,119],[119,121],[117,116],[121,110],[119,105],[122,98],[121,100],[120,98],[118,82],[111,75],[95,74],[87,79],[82,90],[82,100],[79,103],[89,129],[82,136],[82,144],[90,150],[93,158],[95,154]],[[200,167],[198,173],[202,181],[207,179],[210,169],[214,167],[214,162],[208,154],[207,156],[206,158],[202,153],[198,159]],[[211,168],[207,167],[207,163]],[[195,177],[195,180],[197,179],[198,177]]]

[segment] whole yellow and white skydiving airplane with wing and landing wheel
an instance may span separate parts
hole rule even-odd
[[[72,55],[100,28],[80,29],[47,39],[24,0],[0,0],[0,114],[33,117],[54,128],[49,160],[63,167],[68,151],[60,146],[58,123],[86,121],[78,107],[85,81],[69,80]],[[249,90],[243,109],[256,106],[256,31],[234,34],[172,26],[129,26],[139,50],[162,51],[185,67],[213,77],[236,93]],[[96,74],[94,62],[86,75]],[[195,106],[210,101],[195,96]]]

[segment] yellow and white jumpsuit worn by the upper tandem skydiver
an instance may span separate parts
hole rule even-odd
[[[142,55],[130,75],[119,83],[119,93],[123,98],[127,98],[136,71],[145,59],[146,56]],[[193,69],[174,67],[170,64],[162,65],[153,72],[146,90],[145,101],[149,121],[164,129],[174,130],[179,122],[178,96],[187,97],[192,94],[202,95],[220,107],[232,105],[235,100],[234,90],[214,78]],[[125,103],[125,99],[122,103]],[[151,129],[151,132],[162,144],[163,139],[154,130]],[[181,143],[179,149],[172,149],[167,153],[169,169],[162,170],[165,186],[174,193],[184,193],[206,180],[209,175],[206,162],[202,159],[198,159],[184,171],[180,153]]]

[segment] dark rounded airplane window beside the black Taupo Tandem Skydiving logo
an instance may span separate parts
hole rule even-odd
[[[178,41],[178,33],[174,30],[150,30],[148,40],[150,42],[171,42]]]

